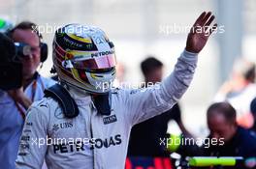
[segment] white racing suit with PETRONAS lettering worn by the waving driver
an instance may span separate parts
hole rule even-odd
[[[183,51],[175,70],[159,85],[113,89],[110,116],[98,114],[90,96],[72,91],[80,110],[73,119],[64,118],[53,99],[33,103],[20,138],[16,168],[40,169],[44,159],[48,169],[124,168],[131,127],[172,108],[187,90],[196,65],[197,54]]]

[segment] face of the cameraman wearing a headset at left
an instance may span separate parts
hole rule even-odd
[[[40,65],[40,40],[38,35],[30,29],[16,29],[13,34],[15,42],[25,42],[32,47],[30,55],[22,58],[22,75],[24,79],[31,78]]]

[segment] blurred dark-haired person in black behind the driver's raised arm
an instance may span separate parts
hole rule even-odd
[[[150,87],[162,81],[163,63],[154,57],[147,57],[141,63],[144,74],[144,86]],[[134,126],[129,141],[129,156],[169,156],[164,146],[160,145],[160,138],[166,137],[168,122],[175,120],[184,134],[189,134],[181,122],[180,108],[176,104],[171,110],[155,116],[143,123]]]

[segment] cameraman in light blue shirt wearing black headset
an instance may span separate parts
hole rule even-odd
[[[4,169],[16,167],[18,141],[26,110],[33,101],[44,97],[46,88],[55,84],[53,80],[41,76],[37,71],[40,63],[47,59],[46,48],[44,48],[47,46],[41,42],[42,36],[35,28],[35,23],[23,21],[8,32],[8,36],[14,42],[23,42],[29,45],[30,53],[20,57],[22,63],[21,88],[9,91],[0,90],[0,163],[1,168]]]

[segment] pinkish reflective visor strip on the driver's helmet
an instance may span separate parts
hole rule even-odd
[[[109,69],[116,66],[115,55],[110,54],[104,57],[95,57],[86,60],[66,60],[63,61],[65,68],[75,69]]]

